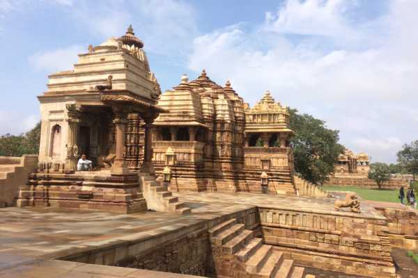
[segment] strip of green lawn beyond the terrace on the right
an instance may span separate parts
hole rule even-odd
[[[340,186],[323,186],[325,190],[336,190],[336,191],[353,191],[357,193],[363,199],[369,199],[372,201],[380,202],[392,202],[398,203],[398,190],[392,189],[367,189],[367,188],[357,188],[357,187],[340,187]]]

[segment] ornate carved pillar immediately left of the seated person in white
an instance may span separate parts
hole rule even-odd
[[[67,156],[65,158],[65,173],[74,173],[77,170],[77,160],[79,158],[79,149],[77,146],[80,113],[77,111],[75,104],[67,105],[68,115],[68,139],[67,139]]]

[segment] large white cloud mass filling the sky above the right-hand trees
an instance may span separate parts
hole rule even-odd
[[[231,79],[252,103],[270,89],[283,104],[319,111],[347,147],[364,144],[371,156],[395,161],[401,142],[418,138],[418,18],[411,12],[418,1],[394,1],[387,15],[361,24],[346,18],[351,6],[287,1],[256,31],[233,25],[196,38],[189,69],[206,68],[219,83]]]

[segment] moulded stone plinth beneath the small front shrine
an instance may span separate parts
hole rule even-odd
[[[109,170],[36,172],[20,186],[17,206],[52,206],[116,213],[146,211],[135,173],[114,176]]]

